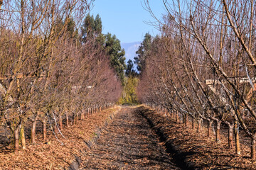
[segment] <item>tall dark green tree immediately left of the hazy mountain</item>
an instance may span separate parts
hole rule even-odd
[[[125,64],[125,52],[124,49],[121,48],[120,41],[117,39],[116,35],[111,35],[107,33],[105,35],[106,44],[105,49],[107,55],[110,56],[110,64],[114,68],[115,72],[119,79],[121,79],[122,84],[124,85],[124,69],[126,69]]]

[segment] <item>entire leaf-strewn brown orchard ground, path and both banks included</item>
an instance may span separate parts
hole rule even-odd
[[[150,108],[120,109],[107,109],[65,128],[65,138],[58,134],[64,145],[48,132],[49,140],[41,140],[39,133],[36,144],[18,154],[11,145],[2,147],[0,169],[78,168],[75,159],[80,169],[256,169],[250,147],[241,144],[238,157],[235,149],[228,149],[225,135],[217,143],[214,136],[206,137],[206,129],[196,132]]]

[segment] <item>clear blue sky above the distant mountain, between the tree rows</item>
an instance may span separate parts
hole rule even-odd
[[[149,0],[152,11],[158,18],[164,13],[161,0]],[[102,18],[102,33],[112,33],[122,42],[142,41],[145,33],[159,34],[154,26],[144,21],[154,21],[143,8],[144,0],[95,0],[90,14]]]

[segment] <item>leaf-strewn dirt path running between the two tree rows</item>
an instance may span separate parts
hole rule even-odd
[[[122,108],[80,169],[179,169],[135,108]]]

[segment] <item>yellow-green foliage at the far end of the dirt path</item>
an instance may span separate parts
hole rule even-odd
[[[122,98],[119,98],[119,104],[137,104],[137,77],[126,77],[124,81],[124,90]]]

